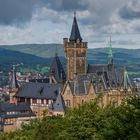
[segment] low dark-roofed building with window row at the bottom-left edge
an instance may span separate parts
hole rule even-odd
[[[26,103],[0,103],[0,131],[10,132],[35,119],[36,115]]]

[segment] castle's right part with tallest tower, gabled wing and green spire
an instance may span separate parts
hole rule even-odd
[[[132,85],[125,69],[113,63],[110,47],[107,64],[87,64],[87,42],[83,42],[74,15],[70,38],[64,38],[67,59],[67,81],[62,95],[68,107],[78,107],[102,94],[101,104],[120,104],[126,94],[132,93]]]

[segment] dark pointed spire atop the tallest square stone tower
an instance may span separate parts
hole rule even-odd
[[[74,12],[73,25],[72,25],[72,30],[71,30],[71,35],[70,35],[69,40],[76,41],[77,39],[82,41],[82,37],[80,35],[80,31],[79,31],[77,20],[76,20],[76,12]]]

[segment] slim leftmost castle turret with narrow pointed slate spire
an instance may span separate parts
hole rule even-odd
[[[18,82],[16,78],[15,65],[13,65],[12,76],[9,85],[10,103],[16,103],[15,95],[18,91]]]

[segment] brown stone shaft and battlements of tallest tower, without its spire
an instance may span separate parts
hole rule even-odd
[[[64,39],[64,50],[67,59],[67,80],[73,80],[76,74],[86,73],[87,42],[68,42]]]

